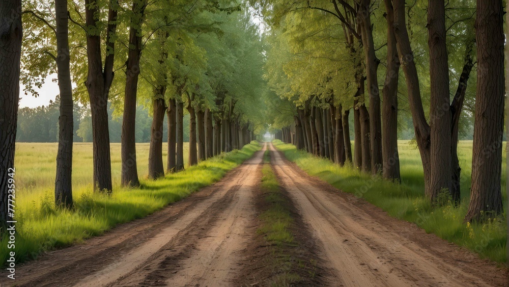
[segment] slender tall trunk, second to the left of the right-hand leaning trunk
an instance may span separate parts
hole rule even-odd
[[[378,64],[380,60],[375,55],[373,28],[370,14],[371,0],[361,0],[358,15],[362,30],[362,45],[364,47],[367,88],[370,98],[370,144],[371,171],[373,174],[382,171],[382,122],[380,116],[380,90],[378,88]],[[367,170],[367,169],[366,169]]]

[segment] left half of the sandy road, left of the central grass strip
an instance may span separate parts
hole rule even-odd
[[[18,266],[18,286],[235,285],[254,222],[257,152],[214,186],[147,218]],[[3,272],[4,273],[4,272]],[[4,275],[4,274],[1,275]],[[0,284],[12,284],[6,275]]]

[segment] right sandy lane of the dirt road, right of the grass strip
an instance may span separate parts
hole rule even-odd
[[[312,229],[321,257],[332,269],[331,285],[506,284],[505,274],[494,264],[473,258],[415,225],[390,218],[380,208],[308,176],[272,144],[270,150],[281,186]],[[465,256],[471,260],[463,261]]]

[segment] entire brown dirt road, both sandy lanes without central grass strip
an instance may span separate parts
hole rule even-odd
[[[265,145],[214,186],[147,218],[17,267],[18,286],[238,286],[263,258],[256,240],[256,190],[271,150],[281,187],[298,212],[305,242],[330,286],[503,286],[495,265],[395,220],[379,208],[309,177]],[[299,221],[300,222],[300,221]],[[305,229],[305,230],[304,230]],[[255,262],[256,261],[256,262]],[[254,262],[254,263],[253,263]],[[258,274],[258,273],[257,273]],[[2,286],[13,282],[0,274]]]

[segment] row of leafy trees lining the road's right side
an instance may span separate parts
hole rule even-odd
[[[400,181],[398,112],[409,111],[426,196],[434,202],[446,192],[459,203],[458,133],[474,112],[465,220],[502,213],[502,1],[251,3],[271,28],[267,73],[277,95],[271,106],[285,111],[273,111],[277,138]]]

